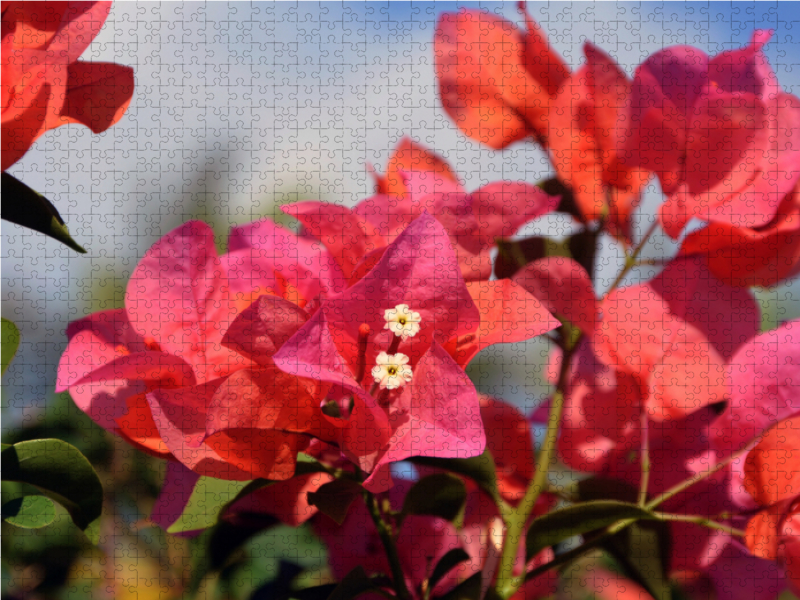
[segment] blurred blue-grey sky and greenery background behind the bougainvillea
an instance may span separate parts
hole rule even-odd
[[[128,112],[100,135],[78,126],[49,131],[9,170],[56,205],[88,254],[3,222],[1,265],[2,315],[22,333],[3,380],[3,441],[59,437],[81,449],[104,477],[108,535],[97,549],[81,542],[65,518],[36,532],[4,523],[4,596],[168,598],[185,583],[192,561],[203,560],[197,541],[144,526],[163,465],[107,436],[68,397],[53,393],[67,324],[121,307],[132,269],[158,238],[197,218],[214,227],[224,250],[234,224],[272,216],[291,227],[282,204],[353,205],[373,192],[368,165],[382,171],[404,135],[444,157],[470,191],[498,179],[535,183],[553,174],[535,144],[502,152],[480,147],[442,110],[433,33],[438,15],[459,7],[521,24],[516,2],[113,5],[82,58],[134,68]],[[783,88],[800,95],[800,57],[793,50],[800,43],[798,4],[528,8],[571,67],[581,64],[589,40],[629,75],[665,46],[688,44],[713,55],[746,45],[753,29],[773,29],[765,52]],[[651,184],[640,231],[660,198]],[[569,222],[556,217],[524,231],[569,232]],[[644,257],[670,256],[674,249],[656,237]],[[597,263],[601,287],[616,275],[618,260],[618,248],[607,242]],[[655,273],[639,269],[627,281]],[[765,328],[800,315],[798,285],[757,294]],[[547,350],[540,341],[495,347],[479,355],[470,375],[480,391],[527,412],[548,393],[541,367]],[[231,563],[230,584],[209,598],[249,597],[275,576],[281,558],[324,576],[324,551],[304,529],[271,529],[248,544]]]

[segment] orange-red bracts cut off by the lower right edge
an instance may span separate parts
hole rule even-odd
[[[785,567],[800,591],[800,417],[771,427],[747,455],[744,486],[766,507],[747,525],[745,543],[755,556]]]

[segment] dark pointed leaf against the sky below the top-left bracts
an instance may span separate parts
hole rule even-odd
[[[86,250],[72,239],[64,219],[47,198],[8,173],[2,175],[0,192],[2,192],[0,213],[3,219],[39,231],[66,244],[76,252],[86,254]]]

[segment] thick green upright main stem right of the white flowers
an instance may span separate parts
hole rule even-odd
[[[528,517],[533,512],[539,496],[547,488],[547,476],[555,454],[558,427],[561,423],[561,413],[564,409],[564,394],[569,379],[570,359],[580,339],[581,335],[577,337],[572,346],[564,349],[558,384],[555,394],[553,394],[553,403],[550,406],[550,415],[547,420],[547,434],[539,451],[533,479],[531,479],[528,489],[525,490],[525,496],[523,496],[522,501],[516,507],[509,506],[502,511],[503,521],[506,526],[506,536],[496,583],[497,593],[502,598],[511,597],[524,580],[523,577],[514,577],[514,565],[517,562],[520,542],[525,538],[525,525],[528,522]],[[569,344],[569,340],[565,340],[565,342]]]

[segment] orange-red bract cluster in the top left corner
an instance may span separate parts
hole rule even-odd
[[[3,2],[2,170],[49,129],[80,123],[94,133],[122,118],[133,69],[79,62],[111,2]]]

